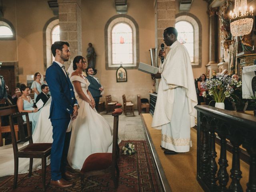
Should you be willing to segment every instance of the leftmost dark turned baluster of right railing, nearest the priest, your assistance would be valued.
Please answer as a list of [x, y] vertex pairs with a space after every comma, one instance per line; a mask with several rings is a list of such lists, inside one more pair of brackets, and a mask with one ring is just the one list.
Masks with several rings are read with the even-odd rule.
[[208, 174], [208, 140], [209, 140], [209, 131], [206, 128], [206, 122], [200, 122], [202, 134], [201, 134], [201, 168], [200, 168], [200, 176], [202, 178], [206, 178]]

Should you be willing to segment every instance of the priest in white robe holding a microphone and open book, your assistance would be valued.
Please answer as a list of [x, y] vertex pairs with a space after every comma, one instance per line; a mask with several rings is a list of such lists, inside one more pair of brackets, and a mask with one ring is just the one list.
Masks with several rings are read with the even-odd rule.
[[152, 127], [162, 130], [161, 147], [164, 154], [188, 152], [192, 146], [190, 128], [195, 126], [197, 104], [194, 76], [188, 50], [177, 40], [178, 32], [169, 27], [164, 30], [164, 43], [170, 46], [167, 56], [160, 50], [161, 78], [152, 120]]

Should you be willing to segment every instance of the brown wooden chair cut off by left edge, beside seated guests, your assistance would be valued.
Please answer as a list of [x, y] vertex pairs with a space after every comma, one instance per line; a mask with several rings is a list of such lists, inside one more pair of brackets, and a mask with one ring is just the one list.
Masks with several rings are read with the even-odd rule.
[[[0, 107], [0, 146], [3, 146], [2, 133], [11, 132], [8, 116], [18, 112], [17, 105]], [[14, 125], [16, 140], [18, 140], [18, 125]]]

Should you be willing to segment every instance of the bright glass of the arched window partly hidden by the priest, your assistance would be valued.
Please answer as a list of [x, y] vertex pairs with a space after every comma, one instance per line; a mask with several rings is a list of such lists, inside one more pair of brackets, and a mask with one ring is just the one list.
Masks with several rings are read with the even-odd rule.
[[187, 21], [179, 21], [175, 24], [178, 31], [178, 41], [187, 48], [190, 61], [194, 62], [194, 28]]

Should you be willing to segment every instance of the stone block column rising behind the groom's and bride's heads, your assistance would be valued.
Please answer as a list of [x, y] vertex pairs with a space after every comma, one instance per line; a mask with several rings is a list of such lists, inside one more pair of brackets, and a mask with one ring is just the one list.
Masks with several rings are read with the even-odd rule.
[[60, 40], [70, 44], [70, 60], [66, 67], [77, 55], [82, 55], [82, 21], [81, 0], [58, 0]]

